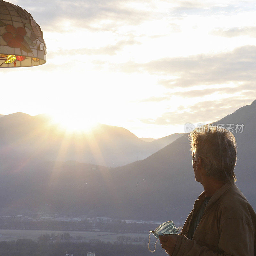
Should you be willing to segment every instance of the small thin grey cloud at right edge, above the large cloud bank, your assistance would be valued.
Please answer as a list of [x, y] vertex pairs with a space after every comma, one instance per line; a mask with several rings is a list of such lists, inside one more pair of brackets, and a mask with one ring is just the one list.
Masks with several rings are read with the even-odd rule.
[[236, 36], [252, 36], [256, 37], [256, 27], [242, 28], [215, 28], [211, 31], [214, 36], [236, 37]]

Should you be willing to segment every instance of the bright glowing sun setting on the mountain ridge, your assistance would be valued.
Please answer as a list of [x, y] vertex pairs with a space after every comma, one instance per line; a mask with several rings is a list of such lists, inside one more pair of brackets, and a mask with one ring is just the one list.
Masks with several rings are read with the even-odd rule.
[[53, 124], [56, 124], [61, 130], [65, 130], [68, 133], [90, 132], [99, 124], [95, 117], [82, 114], [51, 115], [51, 119]]

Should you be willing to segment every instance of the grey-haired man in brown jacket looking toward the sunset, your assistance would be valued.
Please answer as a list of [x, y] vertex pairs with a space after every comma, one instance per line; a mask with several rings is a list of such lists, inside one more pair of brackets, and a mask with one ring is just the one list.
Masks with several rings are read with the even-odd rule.
[[204, 187], [180, 235], [159, 236], [173, 256], [255, 256], [256, 214], [234, 183], [236, 140], [215, 126], [190, 134], [196, 181]]

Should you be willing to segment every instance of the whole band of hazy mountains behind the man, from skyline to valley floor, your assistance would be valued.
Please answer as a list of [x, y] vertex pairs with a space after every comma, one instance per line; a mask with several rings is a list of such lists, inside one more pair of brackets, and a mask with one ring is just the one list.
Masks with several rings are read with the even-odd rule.
[[[256, 100], [213, 123], [244, 124], [242, 132], [233, 133], [236, 183], [254, 209], [255, 112]], [[57, 133], [44, 116], [15, 113], [0, 118], [0, 127], [1, 215], [46, 211], [182, 222], [203, 191], [194, 179], [188, 134], [145, 142], [124, 128], [101, 124], [92, 147], [82, 134]], [[161, 149], [154, 152], [156, 147]], [[93, 159], [94, 152], [102, 158]], [[130, 163], [111, 166], [126, 156]], [[137, 156], [146, 158], [136, 161]]]

